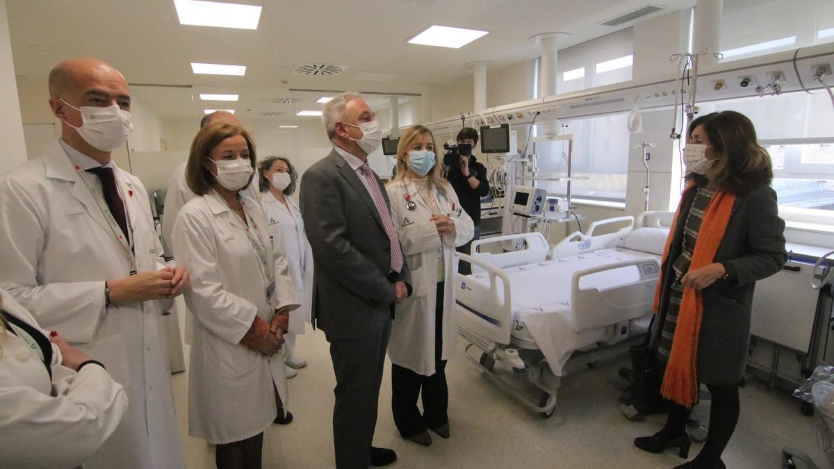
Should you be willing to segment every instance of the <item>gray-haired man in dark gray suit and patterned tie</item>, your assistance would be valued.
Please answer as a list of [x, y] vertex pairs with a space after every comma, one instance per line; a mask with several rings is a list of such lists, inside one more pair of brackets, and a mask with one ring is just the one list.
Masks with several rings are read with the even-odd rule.
[[304, 172], [300, 201], [315, 268], [313, 324], [327, 336], [336, 375], [336, 466], [386, 466], [396, 454], [371, 442], [394, 304], [410, 294], [411, 273], [388, 194], [367, 163], [381, 142], [374, 111], [344, 93], [322, 121], [334, 149]]

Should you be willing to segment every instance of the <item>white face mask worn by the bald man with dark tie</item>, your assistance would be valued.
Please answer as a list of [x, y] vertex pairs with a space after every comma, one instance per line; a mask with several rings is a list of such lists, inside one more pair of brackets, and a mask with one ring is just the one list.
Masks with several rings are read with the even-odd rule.
[[67, 123], [75, 129], [78, 135], [88, 144], [101, 151], [113, 151], [122, 146], [133, 132], [133, 116], [128, 111], [118, 107], [118, 104], [107, 108], [95, 106], [82, 106], [76, 108], [72, 104], [61, 99], [64, 104], [81, 113], [81, 127]]

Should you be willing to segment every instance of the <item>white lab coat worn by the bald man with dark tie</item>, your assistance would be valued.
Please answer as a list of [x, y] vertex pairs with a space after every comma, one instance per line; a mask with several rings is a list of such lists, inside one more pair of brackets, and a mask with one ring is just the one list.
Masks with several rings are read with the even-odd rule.
[[[138, 271], [163, 267], [148, 193], [115, 174]], [[46, 329], [107, 364], [128, 393], [122, 423], [87, 467], [183, 467], [162, 311], [170, 301], [105, 308], [104, 281], [130, 274], [124, 249], [58, 139], [0, 178], [0, 287]]]

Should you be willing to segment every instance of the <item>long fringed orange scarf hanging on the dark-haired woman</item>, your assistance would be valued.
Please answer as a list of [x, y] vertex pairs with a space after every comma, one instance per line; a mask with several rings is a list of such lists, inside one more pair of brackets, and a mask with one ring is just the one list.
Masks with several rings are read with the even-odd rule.
[[[683, 201], [686, 199], [686, 194], [694, 187], [695, 183], [690, 181], [686, 185], [684, 196], [681, 197], [681, 204], [678, 205], [675, 219], [672, 221], [669, 238], [666, 239], [662, 265], [666, 265], [666, 262], [669, 261], [669, 250], [671, 249], [672, 238], [675, 236], [678, 218], [681, 216]], [[710, 265], [715, 260], [735, 203], [736, 196], [728, 192], [717, 192], [712, 198], [701, 222], [695, 250], [692, 251], [690, 272]], [[664, 279], [661, 275], [655, 290], [655, 314], [660, 312], [661, 285], [663, 283]], [[663, 376], [663, 385], [661, 386], [661, 395], [681, 404], [681, 406], [691, 407], [695, 405], [698, 399], [696, 358], [698, 356], [698, 336], [701, 332], [701, 315], [703, 312], [703, 291], [686, 287], [681, 299], [681, 310], [678, 313], [669, 363], [666, 365], [666, 374]]]

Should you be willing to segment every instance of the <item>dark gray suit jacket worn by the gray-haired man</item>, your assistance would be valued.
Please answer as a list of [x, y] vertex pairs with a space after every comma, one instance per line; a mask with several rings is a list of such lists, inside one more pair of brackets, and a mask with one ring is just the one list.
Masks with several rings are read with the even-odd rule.
[[389, 275], [391, 248], [374, 199], [335, 149], [304, 172], [299, 199], [315, 267], [313, 325], [329, 339], [378, 334], [391, 320], [392, 282], [410, 285], [411, 272], [404, 264]]

